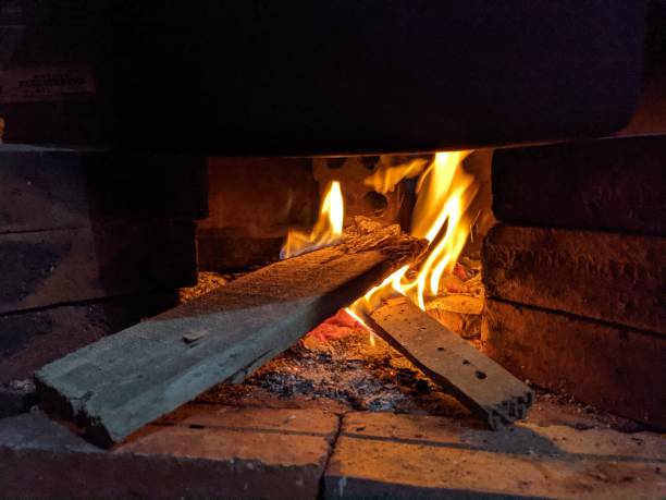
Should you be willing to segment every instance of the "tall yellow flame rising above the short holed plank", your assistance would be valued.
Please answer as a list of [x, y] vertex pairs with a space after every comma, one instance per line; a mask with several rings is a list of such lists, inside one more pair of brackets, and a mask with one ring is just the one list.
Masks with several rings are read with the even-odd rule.
[[439, 293], [442, 276], [453, 269], [469, 235], [466, 210], [478, 191], [473, 175], [461, 167], [469, 153], [437, 153], [425, 168], [417, 184], [411, 234], [430, 242], [428, 255], [420, 268], [414, 270], [416, 276], [405, 266], [351, 304], [349, 309], [355, 317], [365, 317], [396, 294], [405, 295], [424, 310], [425, 300]]

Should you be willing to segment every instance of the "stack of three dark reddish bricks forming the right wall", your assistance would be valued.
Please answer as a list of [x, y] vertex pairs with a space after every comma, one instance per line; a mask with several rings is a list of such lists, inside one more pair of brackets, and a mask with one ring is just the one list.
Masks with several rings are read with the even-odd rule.
[[666, 427], [666, 136], [497, 150], [483, 349]]

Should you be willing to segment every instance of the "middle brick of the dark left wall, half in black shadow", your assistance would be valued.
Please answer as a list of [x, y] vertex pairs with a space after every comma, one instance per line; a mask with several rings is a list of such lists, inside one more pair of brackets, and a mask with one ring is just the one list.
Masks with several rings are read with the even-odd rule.
[[0, 235], [0, 313], [196, 283], [193, 222]]

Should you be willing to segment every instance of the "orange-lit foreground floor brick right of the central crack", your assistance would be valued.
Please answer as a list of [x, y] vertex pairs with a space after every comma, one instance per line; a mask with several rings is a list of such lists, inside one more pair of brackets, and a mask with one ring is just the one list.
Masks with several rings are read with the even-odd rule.
[[349, 413], [324, 476], [328, 499], [659, 498], [658, 435]]

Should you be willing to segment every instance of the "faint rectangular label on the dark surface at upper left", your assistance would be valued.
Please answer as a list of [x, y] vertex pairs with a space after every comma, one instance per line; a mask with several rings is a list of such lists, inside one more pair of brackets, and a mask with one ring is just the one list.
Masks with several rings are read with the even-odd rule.
[[90, 97], [95, 82], [87, 68], [28, 68], [0, 71], [0, 103]]

